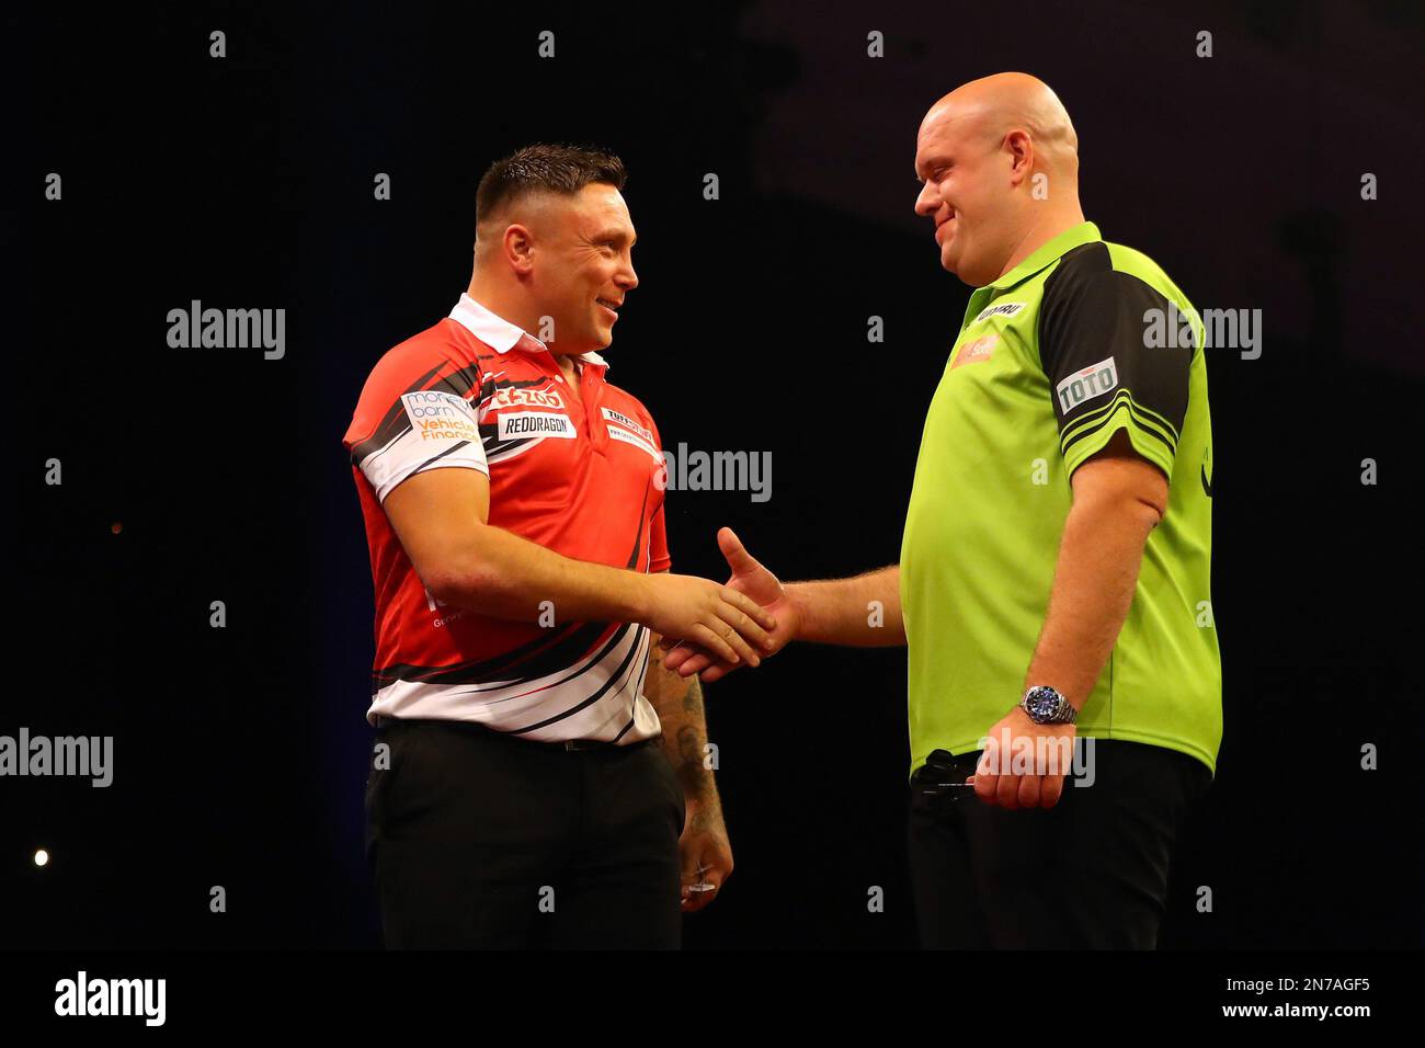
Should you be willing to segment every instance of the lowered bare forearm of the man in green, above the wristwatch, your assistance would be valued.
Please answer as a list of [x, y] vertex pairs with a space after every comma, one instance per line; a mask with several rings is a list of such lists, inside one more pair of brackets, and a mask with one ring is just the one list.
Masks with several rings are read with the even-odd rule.
[[1157, 512], [1129, 499], [1076, 500], [1064, 522], [1049, 612], [1025, 686], [1049, 684], [1082, 709], [1133, 605]]

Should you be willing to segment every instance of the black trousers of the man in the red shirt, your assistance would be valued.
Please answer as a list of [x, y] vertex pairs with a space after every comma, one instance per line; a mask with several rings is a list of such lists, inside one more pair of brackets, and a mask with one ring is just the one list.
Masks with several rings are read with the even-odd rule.
[[683, 787], [658, 740], [593, 750], [382, 719], [366, 857], [386, 947], [681, 945]]

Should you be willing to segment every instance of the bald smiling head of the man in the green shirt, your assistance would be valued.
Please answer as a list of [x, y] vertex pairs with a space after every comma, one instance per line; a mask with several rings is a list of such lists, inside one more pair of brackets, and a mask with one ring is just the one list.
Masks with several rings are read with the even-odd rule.
[[1059, 96], [1027, 73], [939, 98], [921, 121], [915, 174], [915, 210], [935, 221], [940, 264], [973, 287], [1017, 264], [1045, 231], [1083, 221], [1079, 135]]

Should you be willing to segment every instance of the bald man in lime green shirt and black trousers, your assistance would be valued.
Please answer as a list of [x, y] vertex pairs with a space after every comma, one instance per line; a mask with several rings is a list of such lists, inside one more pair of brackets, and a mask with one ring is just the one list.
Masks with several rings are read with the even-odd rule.
[[1039, 80], [939, 100], [915, 170], [940, 264], [976, 291], [899, 563], [784, 587], [718, 540], [777, 642], [908, 646], [925, 945], [1151, 948], [1221, 739], [1201, 321], [1084, 221], [1077, 135]]

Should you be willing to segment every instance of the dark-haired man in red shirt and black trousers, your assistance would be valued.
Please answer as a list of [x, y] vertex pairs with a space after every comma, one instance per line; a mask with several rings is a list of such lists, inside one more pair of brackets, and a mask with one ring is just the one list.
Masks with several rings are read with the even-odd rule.
[[623, 181], [569, 147], [493, 164], [469, 289], [382, 356], [343, 439], [389, 947], [677, 947], [680, 900], [732, 868], [701, 693], [648, 652], [757, 664], [775, 620], [668, 573], [658, 429], [597, 352], [638, 285]]

